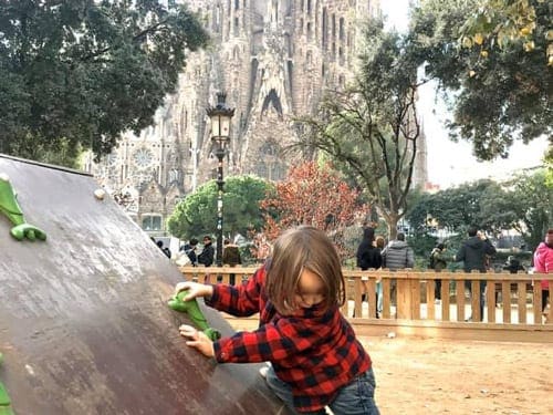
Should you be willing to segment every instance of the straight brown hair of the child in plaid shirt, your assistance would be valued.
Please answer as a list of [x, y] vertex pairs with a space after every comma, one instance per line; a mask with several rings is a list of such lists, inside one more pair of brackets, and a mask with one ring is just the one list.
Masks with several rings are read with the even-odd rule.
[[322, 230], [301, 226], [276, 239], [268, 267], [267, 295], [280, 313], [295, 310], [294, 297], [305, 269], [323, 281], [324, 311], [345, 303], [345, 280], [336, 248]]

